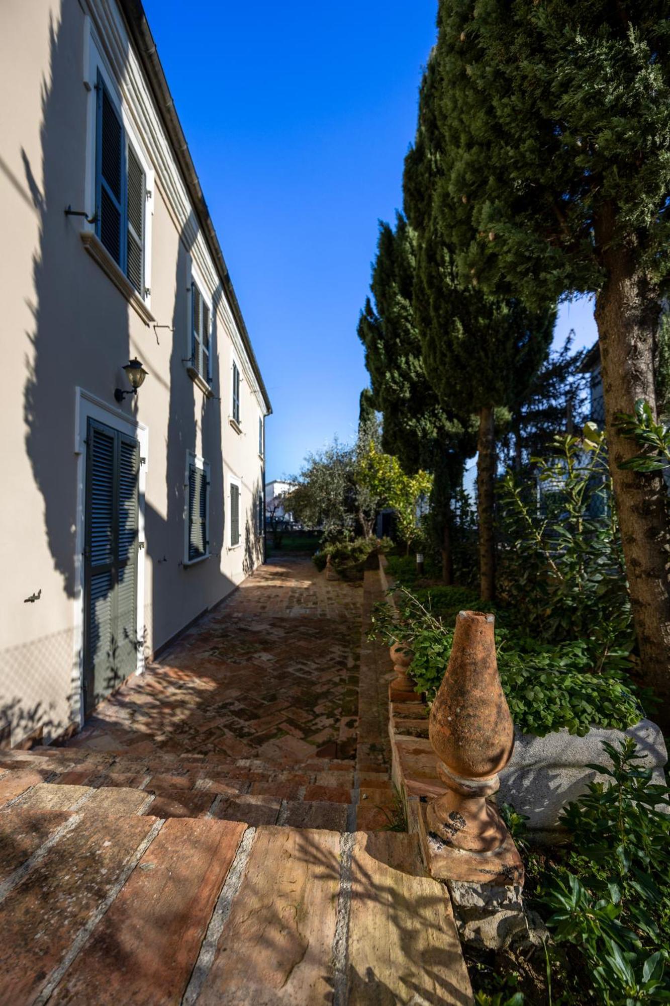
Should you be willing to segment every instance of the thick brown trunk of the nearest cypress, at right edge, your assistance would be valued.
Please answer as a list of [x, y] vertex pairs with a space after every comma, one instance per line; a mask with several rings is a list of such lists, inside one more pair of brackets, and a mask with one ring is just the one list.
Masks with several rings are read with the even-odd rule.
[[655, 718], [670, 728], [670, 590], [667, 489], [657, 474], [622, 471], [622, 461], [639, 453], [621, 437], [617, 412], [632, 412], [638, 398], [656, 414], [654, 348], [659, 325], [657, 292], [636, 268], [633, 254], [611, 247], [614, 210], [596, 222], [597, 243], [607, 281], [596, 301], [601, 347], [610, 470], [619, 514], [626, 572], [645, 684], [660, 699]]

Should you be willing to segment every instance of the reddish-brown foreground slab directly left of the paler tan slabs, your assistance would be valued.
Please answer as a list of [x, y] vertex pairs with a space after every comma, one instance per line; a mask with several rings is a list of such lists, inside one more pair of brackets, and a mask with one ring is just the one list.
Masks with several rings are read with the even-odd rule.
[[55, 988], [51, 1004], [178, 1006], [244, 825], [167, 821]]

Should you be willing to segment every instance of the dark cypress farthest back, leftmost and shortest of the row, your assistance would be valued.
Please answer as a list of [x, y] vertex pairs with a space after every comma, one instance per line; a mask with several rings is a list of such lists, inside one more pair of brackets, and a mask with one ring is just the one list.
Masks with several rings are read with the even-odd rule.
[[[414, 236], [402, 214], [395, 227], [380, 223], [370, 291], [358, 322], [370, 374], [369, 407], [383, 415], [382, 450], [397, 457], [412, 475], [420, 469], [439, 475], [432, 490], [433, 526], [443, 558], [443, 578], [454, 576], [451, 495], [458, 488], [465, 460], [474, 453], [472, 435], [441, 405], [424, 370], [414, 324], [412, 296]], [[365, 392], [363, 392], [365, 394]], [[362, 408], [361, 397], [361, 408]]]

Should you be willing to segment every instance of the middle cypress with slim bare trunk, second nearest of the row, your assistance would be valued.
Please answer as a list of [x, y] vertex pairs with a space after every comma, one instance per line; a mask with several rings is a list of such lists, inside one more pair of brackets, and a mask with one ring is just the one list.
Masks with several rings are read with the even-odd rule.
[[433, 53], [403, 179], [405, 207], [417, 235], [414, 318], [425, 371], [441, 404], [460, 415], [477, 415], [480, 592], [483, 600], [492, 601], [496, 413], [523, 400], [548, 353], [555, 311], [544, 307], [530, 312], [518, 298], [487, 294], [462, 282], [442, 199], [446, 152], [441, 97], [441, 70]]

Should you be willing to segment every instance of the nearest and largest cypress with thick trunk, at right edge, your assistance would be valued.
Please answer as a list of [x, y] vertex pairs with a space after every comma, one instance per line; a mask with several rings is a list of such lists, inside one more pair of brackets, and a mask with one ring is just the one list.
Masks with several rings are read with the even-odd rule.
[[[440, 200], [461, 282], [529, 304], [595, 293], [610, 465], [646, 681], [670, 709], [666, 493], [622, 470], [616, 416], [657, 414], [668, 288], [667, 0], [442, 0]], [[668, 712], [665, 723], [668, 722]]]

